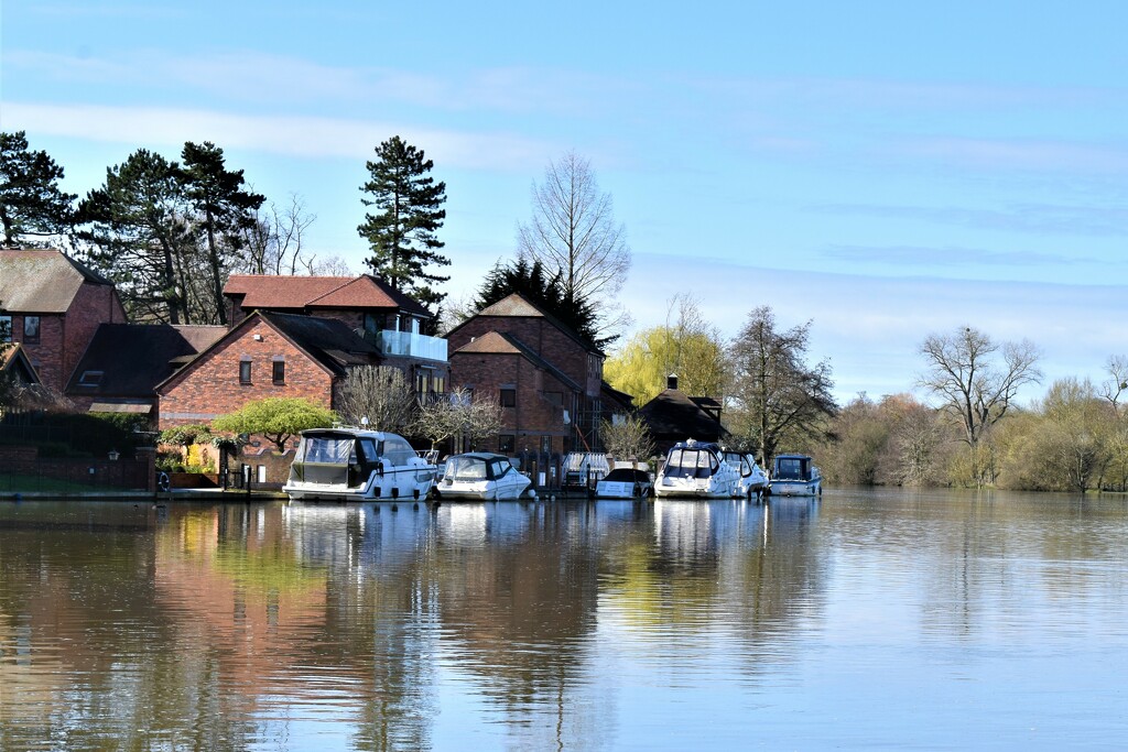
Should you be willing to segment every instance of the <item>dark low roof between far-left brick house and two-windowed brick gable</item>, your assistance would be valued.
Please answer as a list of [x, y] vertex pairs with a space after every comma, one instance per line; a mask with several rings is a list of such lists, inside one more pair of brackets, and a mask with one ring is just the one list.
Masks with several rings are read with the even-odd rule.
[[[227, 333], [221, 326], [103, 324], [94, 333], [65, 393], [153, 397], [177, 365], [210, 347]], [[99, 373], [83, 380], [83, 374]]]

